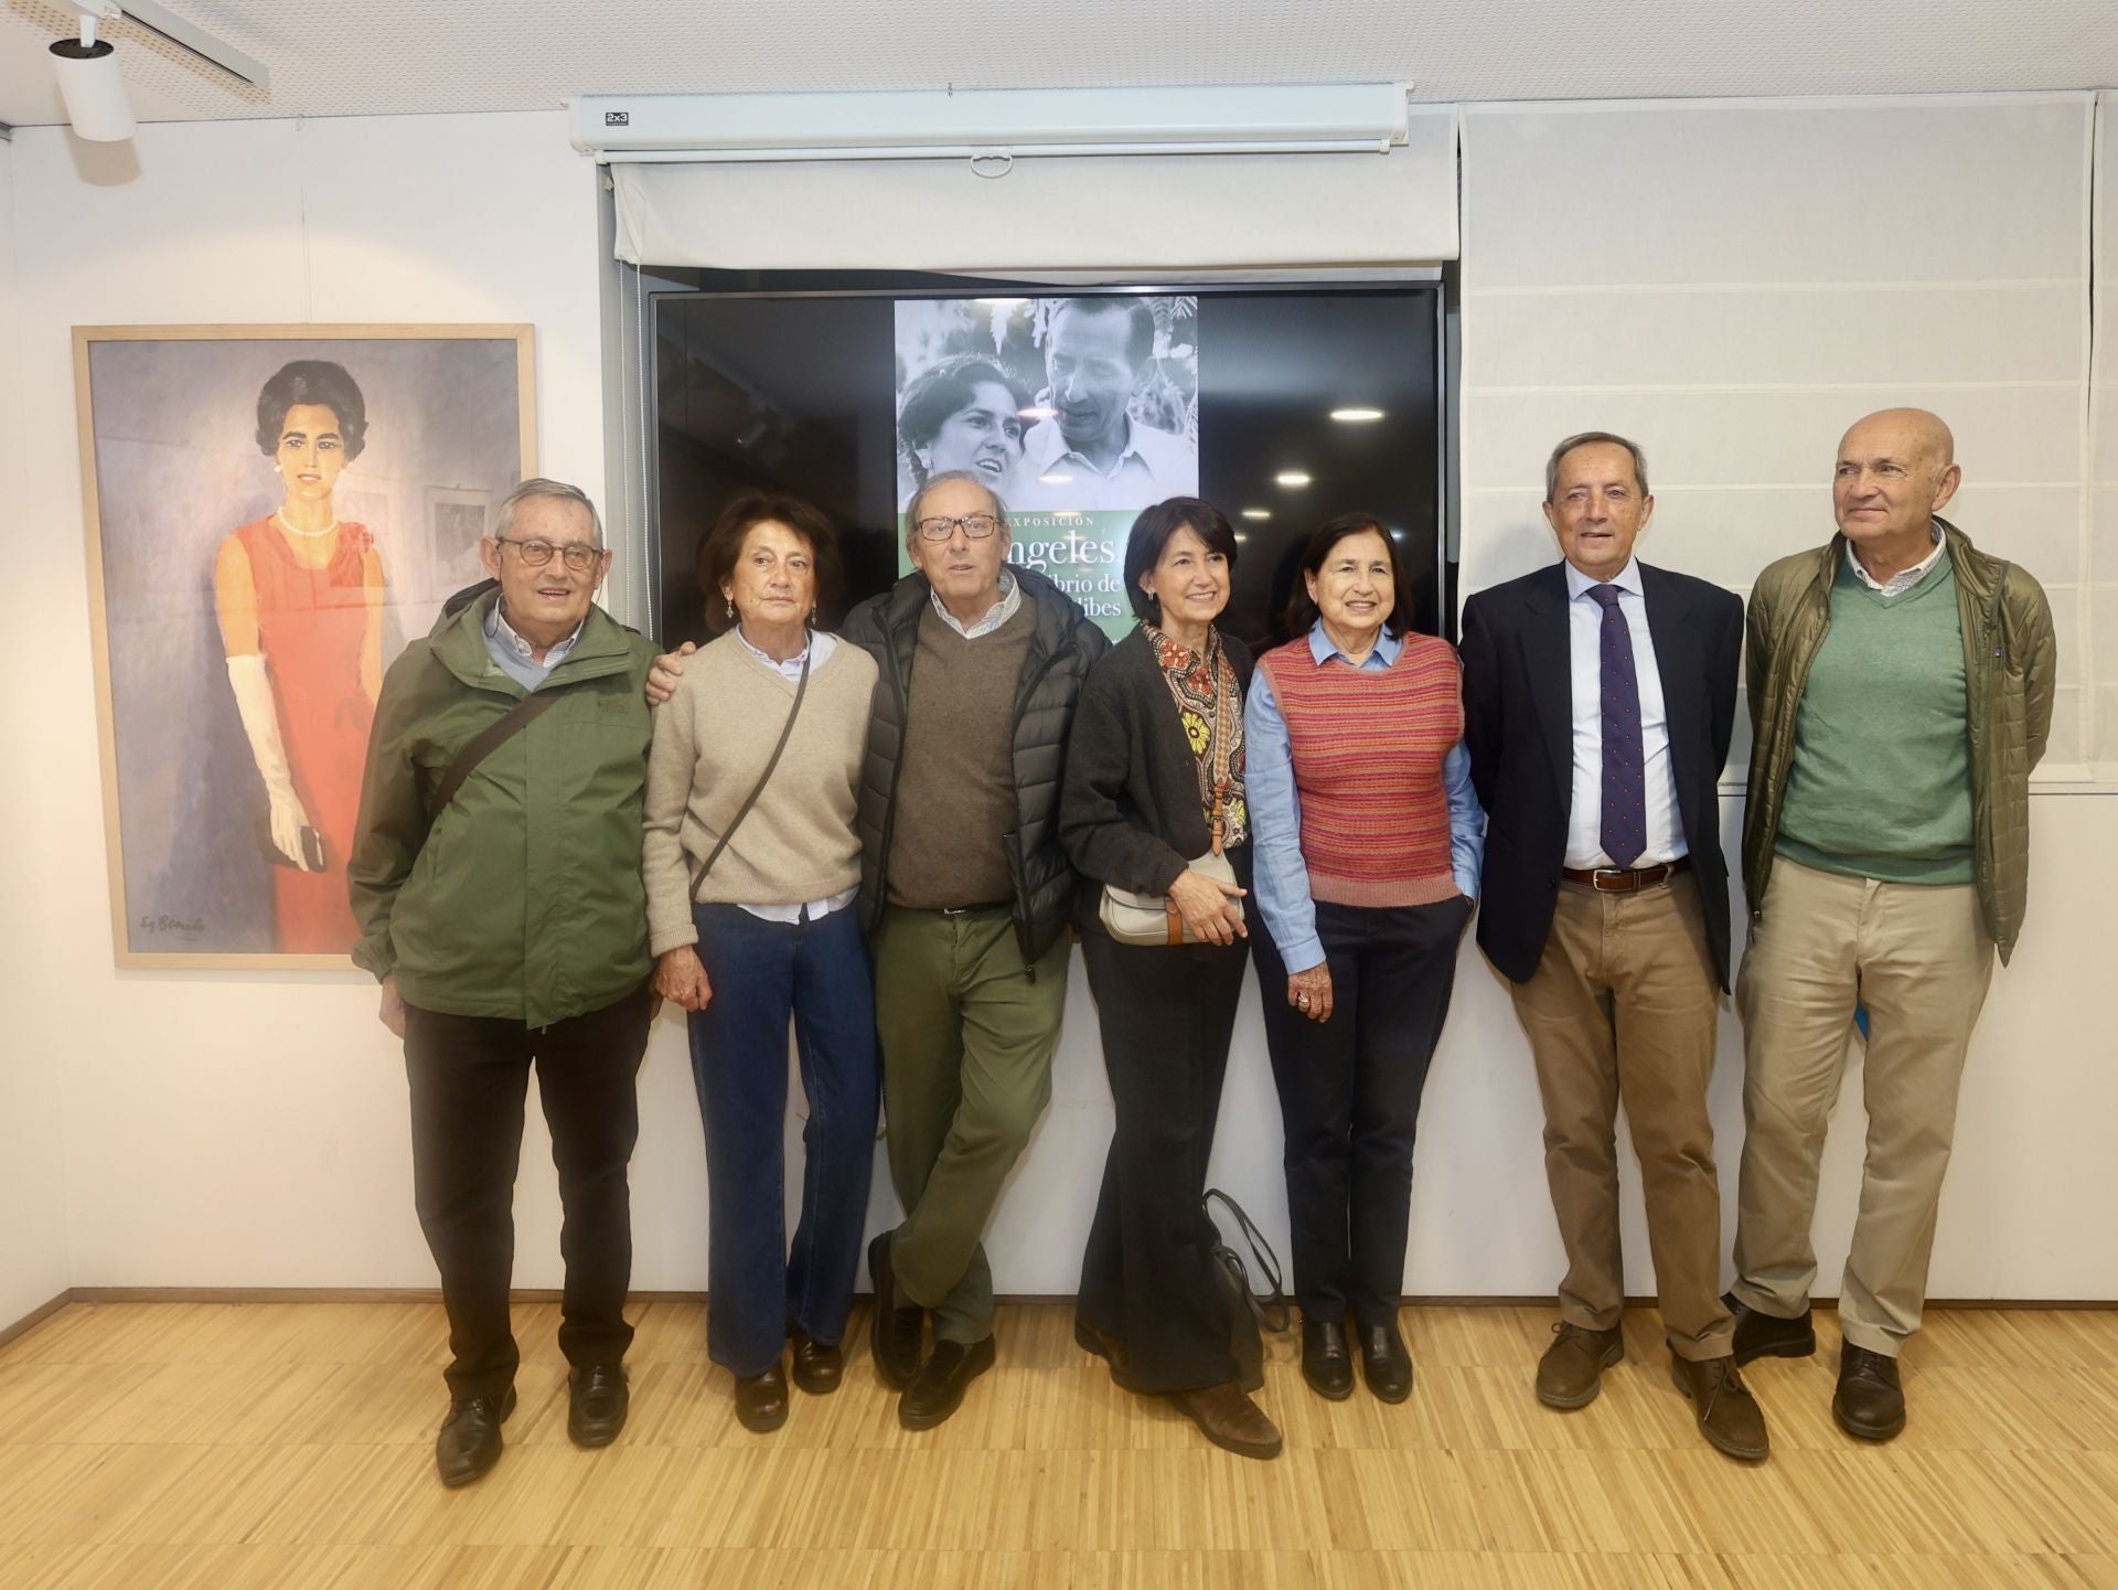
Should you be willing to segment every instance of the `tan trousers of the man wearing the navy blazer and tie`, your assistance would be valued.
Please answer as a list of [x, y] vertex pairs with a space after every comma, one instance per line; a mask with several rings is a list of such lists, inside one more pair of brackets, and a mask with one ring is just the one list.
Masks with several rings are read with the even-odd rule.
[[1625, 1308], [1618, 1101], [1648, 1196], [1663, 1330], [1677, 1357], [1730, 1351], [1720, 1302], [1713, 1023], [1720, 987], [1699, 887], [1677, 874], [1633, 893], [1561, 883], [1544, 959], [1512, 987], [1544, 1095], [1544, 1175], [1567, 1249], [1559, 1317], [1610, 1330]]

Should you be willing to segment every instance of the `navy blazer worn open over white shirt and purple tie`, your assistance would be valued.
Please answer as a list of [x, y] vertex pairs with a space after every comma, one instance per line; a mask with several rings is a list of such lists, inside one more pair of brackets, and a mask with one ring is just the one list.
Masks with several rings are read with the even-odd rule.
[[[1677, 821], [1707, 915], [1713, 972], [1728, 987], [1728, 860], [1713, 785], [1735, 728], [1743, 599], [1718, 584], [1646, 563], [1654, 665], [1669, 713]], [[1544, 955], [1574, 805], [1574, 663], [1565, 563], [1525, 574], [1464, 603], [1464, 739], [1485, 805], [1478, 948], [1527, 982]]]

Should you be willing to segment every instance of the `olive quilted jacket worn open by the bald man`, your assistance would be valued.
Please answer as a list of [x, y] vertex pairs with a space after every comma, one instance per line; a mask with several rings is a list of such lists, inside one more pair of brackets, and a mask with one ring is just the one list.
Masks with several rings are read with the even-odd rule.
[[[1972, 760], [1972, 845], [1978, 910], [2002, 965], [2023, 932], [2029, 904], [2029, 773], [2044, 758], [2052, 728], [2052, 610], [2044, 589], [2021, 567], [1972, 546], [1970, 536], [1936, 517], [1957, 576], [1957, 625], [1963, 631], [1963, 733]], [[1832, 582], [1845, 567], [1847, 540], [1771, 563], [1749, 593], [1743, 675], [1749, 684], [1749, 807], [1743, 813], [1743, 887], [1749, 915], [1764, 906], [1779, 841], [1779, 802], [1794, 762], [1794, 720], [1832, 627]]]

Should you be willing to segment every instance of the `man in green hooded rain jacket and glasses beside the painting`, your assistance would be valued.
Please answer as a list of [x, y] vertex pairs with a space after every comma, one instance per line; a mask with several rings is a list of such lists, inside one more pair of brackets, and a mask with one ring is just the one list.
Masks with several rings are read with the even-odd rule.
[[405, 1040], [413, 1192], [453, 1351], [434, 1444], [451, 1486], [500, 1461], [515, 1408], [532, 1065], [566, 1207], [568, 1433], [606, 1446], [625, 1427], [625, 1167], [652, 1016], [640, 802], [654, 648], [593, 601], [610, 553], [578, 487], [523, 481], [481, 555], [493, 580], [451, 599], [383, 680], [347, 870], [354, 959]]

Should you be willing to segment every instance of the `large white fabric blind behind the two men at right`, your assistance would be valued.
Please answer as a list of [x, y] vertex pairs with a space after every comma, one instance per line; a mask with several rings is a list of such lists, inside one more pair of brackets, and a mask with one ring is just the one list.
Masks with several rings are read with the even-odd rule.
[[[2050, 593], [2059, 709], [2040, 779], [2080, 779], [2099, 688], [2082, 644], [2090, 104], [1466, 110], [1466, 595], [1557, 555], [1544, 457], [1572, 432], [1646, 449], [1644, 559], [1747, 591], [1830, 538], [1832, 449], [1853, 419], [1934, 409], [1963, 464], [1949, 517]], [[2118, 440], [2099, 474], [2118, 476]], [[2118, 525], [2118, 491], [2099, 500]], [[1737, 771], [1745, 735], [1739, 713]]]

